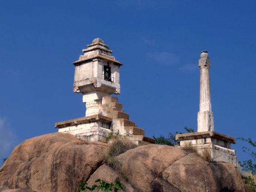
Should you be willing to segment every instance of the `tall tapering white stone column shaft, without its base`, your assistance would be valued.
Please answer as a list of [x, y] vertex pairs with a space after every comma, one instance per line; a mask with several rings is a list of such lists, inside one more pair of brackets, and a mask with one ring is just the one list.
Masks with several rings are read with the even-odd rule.
[[211, 62], [207, 51], [202, 51], [199, 59], [200, 67], [200, 105], [198, 112], [198, 132], [214, 131], [213, 113], [210, 96], [209, 67]]

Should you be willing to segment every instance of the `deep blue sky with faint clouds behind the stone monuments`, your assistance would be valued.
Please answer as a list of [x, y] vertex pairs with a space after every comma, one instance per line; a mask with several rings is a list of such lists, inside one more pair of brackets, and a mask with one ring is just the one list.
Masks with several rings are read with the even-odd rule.
[[[197, 129], [208, 50], [215, 131], [256, 140], [255, 9], [254, 0], [2, 0], [0, 158], [85, 115], [71, 63], [94, 38], [124, 64], [117, 97], [146, 136]], [[239, 160], [243, 145], [232, 145]]]

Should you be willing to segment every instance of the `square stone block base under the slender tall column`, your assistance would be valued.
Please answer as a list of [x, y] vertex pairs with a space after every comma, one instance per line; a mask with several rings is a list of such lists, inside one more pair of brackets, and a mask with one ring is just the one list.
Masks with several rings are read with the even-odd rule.
[[211, 162], [230, 163], [238, 167], [236, 150], [231, 149], [231, 143], [236, 139], [215, 131], [204, 131], [188, 134], [177, 134], [176, 140], [180, 140], [180, 147], [187, 144], [196, 148], [199, 154], [209, 152]]

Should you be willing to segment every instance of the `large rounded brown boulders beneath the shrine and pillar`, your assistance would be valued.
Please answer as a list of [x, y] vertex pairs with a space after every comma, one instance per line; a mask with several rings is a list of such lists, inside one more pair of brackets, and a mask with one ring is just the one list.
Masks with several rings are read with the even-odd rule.
[[236, 168], [209, 163], [167, 145], [142, 145], [119, 154], [122, 172], [105, 160], [107, 143], [87, 143], [71, 134], [34, 137], [18, 145], [0, 168], [0, 191], [77, 191], [82, 181], [121, 181], [126, 192], [245, 191]]

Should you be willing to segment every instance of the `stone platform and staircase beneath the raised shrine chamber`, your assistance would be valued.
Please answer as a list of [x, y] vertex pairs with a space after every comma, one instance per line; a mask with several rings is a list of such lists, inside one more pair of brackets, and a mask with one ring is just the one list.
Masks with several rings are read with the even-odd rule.
[[136, 144], [155, 143], [154, 139], [144, 136], [143, 129], [129, 120], [129, 114], [122, 110], [118, 98], [104, 96], [98, 108], [99, 114], [58, 122], [55, 123], [55, 128], [58, 128], [59, 132], [70, 133], [89, 142], [104, 140], [112, 132], [127, 135]]

